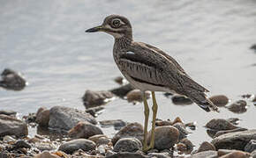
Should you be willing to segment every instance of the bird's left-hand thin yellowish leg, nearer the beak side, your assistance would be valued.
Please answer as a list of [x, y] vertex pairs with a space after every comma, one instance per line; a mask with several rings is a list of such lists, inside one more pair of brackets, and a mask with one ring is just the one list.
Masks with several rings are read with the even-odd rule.
[[147, 151], [148, 147], [147, 147], [147, 124], [148, 124], [148, 115], [149, 115], [149, 108], [148, 108], [148, 104], [147, 104], [147, 97], [145, 95], [145, 91], [142, 92], [143, 93], [143, 101], [144, 101], [144, 116], [145, 116], [145, 120], [144, 120], [144, 140], [143, 140], [143, 151]]

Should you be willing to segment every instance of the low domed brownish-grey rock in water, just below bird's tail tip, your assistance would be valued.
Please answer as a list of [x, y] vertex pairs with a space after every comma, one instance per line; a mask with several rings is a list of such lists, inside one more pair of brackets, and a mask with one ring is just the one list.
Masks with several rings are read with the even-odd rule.
[[212, 130], [216, 130], [216, 131], [232, 130], [232, 129], [236, 129], [237, 128], [237, 126], [234, 126], [229, 121], [227, 121], [226, 119], [222, 119], [222, 118], [211, 119], [207, 123], [206, 127], [210, 128]]

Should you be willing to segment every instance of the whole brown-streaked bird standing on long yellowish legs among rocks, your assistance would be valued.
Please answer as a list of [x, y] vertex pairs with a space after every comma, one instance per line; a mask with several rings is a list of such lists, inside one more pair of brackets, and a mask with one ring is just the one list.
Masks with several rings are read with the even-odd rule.
[[[206, 88], [192, 80], [184, 69], [169, 54], [147, 43], [132, 39], [132, 25], [128, 18], [120, 15], [109, 15], [102, 25], [87, 29], [86, 32], [106, 32], [115, 39], [113, 57], [117, 67], [129, 83], [141, 90], [144, 103], [143, 151], [154, 148], [154, 129], [158, 104], [155, 91], [171, 92], [190, 98], [204, 111], [219, 111], [206, 93]], [[149, 146], [147, 144], [147, 125], [149, 107], [146, 91], [152, 94], [152, 128]]]

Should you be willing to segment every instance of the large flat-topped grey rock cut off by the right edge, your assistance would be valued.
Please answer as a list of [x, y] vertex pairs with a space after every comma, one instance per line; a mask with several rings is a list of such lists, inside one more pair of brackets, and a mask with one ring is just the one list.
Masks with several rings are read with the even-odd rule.
[[247, 130], [236, 133], [226, 133], [216, 137], [212, 143], [217, 149], [244, 150], [250, 140], [256, 140], [256, 130]]

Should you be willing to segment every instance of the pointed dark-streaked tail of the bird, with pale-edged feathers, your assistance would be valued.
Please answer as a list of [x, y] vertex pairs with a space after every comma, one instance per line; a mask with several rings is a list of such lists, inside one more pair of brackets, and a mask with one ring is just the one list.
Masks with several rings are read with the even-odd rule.
[[217, 111], [219, 112], [218, 107], [211, 102], [205, 93], [190, 93], [187, 95], [195, 104], [198, 104], [200, 108], [202, 108], [204, 111]]

